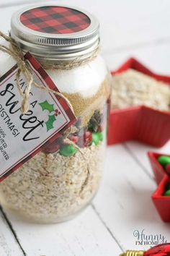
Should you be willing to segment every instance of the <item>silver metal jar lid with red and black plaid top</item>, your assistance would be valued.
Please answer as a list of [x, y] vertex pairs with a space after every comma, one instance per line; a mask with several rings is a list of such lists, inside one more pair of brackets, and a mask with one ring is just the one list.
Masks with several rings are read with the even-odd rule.
[[40, 5], [12, 15], [10, 34], [37, 59], [73, 59], [99, 46], [99, 22], [84, 10]]

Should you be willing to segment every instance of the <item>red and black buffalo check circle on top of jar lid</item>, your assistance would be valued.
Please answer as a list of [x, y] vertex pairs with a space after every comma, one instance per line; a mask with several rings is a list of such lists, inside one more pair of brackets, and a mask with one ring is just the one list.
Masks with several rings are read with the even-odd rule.
[[90, 25], [86, 14], [67, 7], [38, 7], [20, 16], [22, 24], [31, 30], [50, 34], [76, 33]]

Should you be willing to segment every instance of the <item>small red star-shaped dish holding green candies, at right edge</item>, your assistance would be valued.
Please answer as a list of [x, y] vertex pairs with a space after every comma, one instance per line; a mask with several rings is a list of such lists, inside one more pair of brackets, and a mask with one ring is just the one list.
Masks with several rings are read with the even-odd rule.
[[151, 151], [148, 152], [153, 174], [155, 176], [156, 183], [158, 184], [156, 191], [153, 192], [152, 200], [162, 221], [170, 222], [170, 196], [164, 196], [166, 186], [170, 183], [170, 181], [169, 176], [164, 171], [163, 166], [161, 166], [157, 160], [161, 155], [167, 154], [155, 153]]

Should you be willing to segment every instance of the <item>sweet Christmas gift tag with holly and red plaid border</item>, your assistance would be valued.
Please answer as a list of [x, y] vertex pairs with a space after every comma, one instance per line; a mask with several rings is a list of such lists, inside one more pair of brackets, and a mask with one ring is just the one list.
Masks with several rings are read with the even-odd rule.
[[[58, 91], [57, 85], [30, 54], [25, 55], [38, 85]], [[76, 121], [68, 103], [61, 96], [32, 85], [26, 114], [20, 111], [22, 97], [16, 83], [17, 65], [0, 78], [0, 181], [53, 142]], [[27, 80], [21, 74], [22, 91]], [[68, 85], [69, 86], [69, 85]]]

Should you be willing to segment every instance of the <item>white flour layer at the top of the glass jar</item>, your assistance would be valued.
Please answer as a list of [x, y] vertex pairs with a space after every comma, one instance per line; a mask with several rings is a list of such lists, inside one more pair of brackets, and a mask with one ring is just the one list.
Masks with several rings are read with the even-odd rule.
[[[0, 40], [8, 46], [4, 39]], [[16, 62], [4, 52], [0, 53], [0, 76], [11, 69]], [[81, 67], [70, 70], [47, 70], [55, 85], [62, 93], [79, 93], [84, 98], [91, 97], [103, 82], [107, 75], [107, 68], [101, 56], [97, 56], [93, 61]]]

